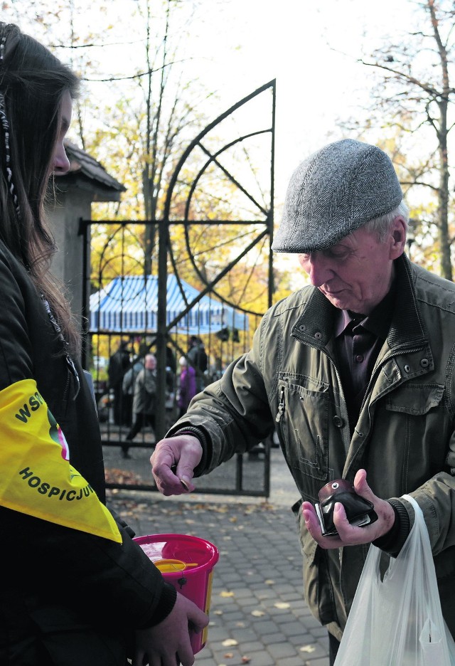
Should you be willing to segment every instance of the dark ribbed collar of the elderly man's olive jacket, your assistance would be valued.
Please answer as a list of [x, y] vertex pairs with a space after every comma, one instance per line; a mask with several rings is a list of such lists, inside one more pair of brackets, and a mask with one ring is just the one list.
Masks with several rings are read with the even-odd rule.
[[[395, 260], [396, 302], [387, 334], [390, 349], [414, 349], [428, 344], [427, 329], [417, 305], [412, 264], [405, 254]], [[316, 287], [309, 287], [304, 310], [291, 334], [313, 347], [326, 347], [334, 334], [336, 308]]]

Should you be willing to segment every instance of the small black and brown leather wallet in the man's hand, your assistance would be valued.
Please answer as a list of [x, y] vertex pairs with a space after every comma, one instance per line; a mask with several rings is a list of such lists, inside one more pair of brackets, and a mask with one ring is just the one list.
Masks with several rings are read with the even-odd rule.
[[323, 536], [336, 536], [338, 534], [333, 524], [335, 502], [343, 504], [348, 521], [355, 527], [365, 527], [365, 525], [370, 525], [378, 520], [374, 504], [368, 502], [368, 499], [360, 497], [350, 481], [345, 479], [331, 481], [321, 488], [319, 503], [315, 504]]

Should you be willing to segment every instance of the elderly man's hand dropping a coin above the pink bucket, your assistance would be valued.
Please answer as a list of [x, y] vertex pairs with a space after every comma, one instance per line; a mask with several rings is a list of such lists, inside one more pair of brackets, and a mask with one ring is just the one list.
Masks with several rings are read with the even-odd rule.
[[195, 489], [194, 470], [202, 458], [202, 446], [193, 435], [161, 440], [151, 455], [151, 473], [163, 495], [183, 495]]

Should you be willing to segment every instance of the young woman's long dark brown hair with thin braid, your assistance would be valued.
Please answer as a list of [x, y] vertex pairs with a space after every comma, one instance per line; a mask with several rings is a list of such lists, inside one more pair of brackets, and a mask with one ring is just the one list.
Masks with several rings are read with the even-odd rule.
[[72, 98], [77, 96], [79, 80], [17, 26], [0, 22], [0, 40], [0, 94], [9, 126], [10, 153], [7, 165], [5, 127], [0, 127], [0, 237], [48, 300], [63, 337], [76, 351], [79, 334], [73, 315], [61, 285], [49, 271], [56, 247], [45, 223], [44, 203], [60, 130], [62, 98], [67, 92]]

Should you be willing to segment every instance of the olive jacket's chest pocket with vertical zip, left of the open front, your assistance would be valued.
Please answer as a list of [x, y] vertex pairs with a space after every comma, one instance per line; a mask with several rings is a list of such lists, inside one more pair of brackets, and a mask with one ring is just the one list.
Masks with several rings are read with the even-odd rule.
[[287, 444], [287, 462], [291, 471], [319, 482], [311, 492], [317, 495], [328, 475], [328, 386], [320, 384], [320, 390], [314, 390], [283, 377], [278, 391], [276, 421]]

